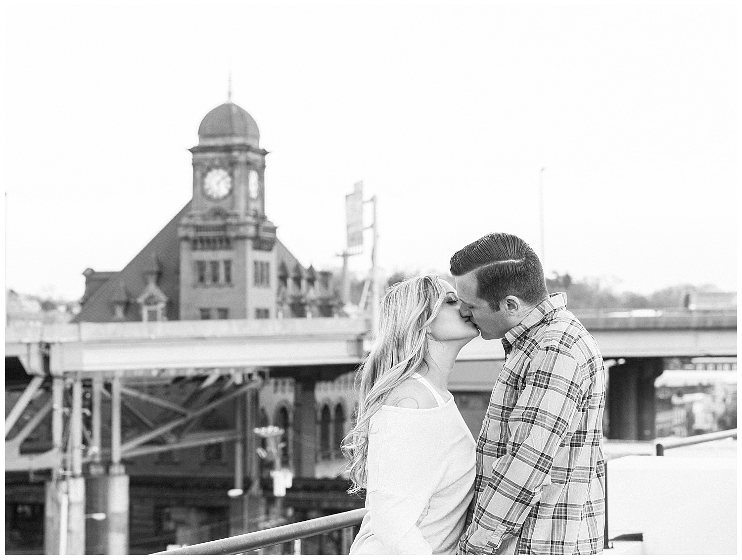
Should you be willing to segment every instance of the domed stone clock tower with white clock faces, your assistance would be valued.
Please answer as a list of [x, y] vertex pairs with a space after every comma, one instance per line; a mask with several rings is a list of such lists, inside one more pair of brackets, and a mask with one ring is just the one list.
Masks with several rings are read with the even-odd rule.
[[255, 119], [228, 101], [203, 118], [198, 139], [191, 208], [178, 227], [180, 319], [273, 318], [276, 228]]

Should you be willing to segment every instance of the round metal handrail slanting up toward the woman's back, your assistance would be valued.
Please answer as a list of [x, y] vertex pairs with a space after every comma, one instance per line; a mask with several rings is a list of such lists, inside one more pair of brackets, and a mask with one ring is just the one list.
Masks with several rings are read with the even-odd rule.
[[271, 527], [262, 531], [254, 531], [244, 535], [220, 538], [217, 541], [191, 544], [188, 547], [176, 548], [174, 550], [163, 550], [154, 554], [240, 554], [270, 547], [274, 544], [296, 541], [300, 538], [309, 538], [328, 531], [355, 527], [363, 521], [368, 510], [361, 507], [359, 510], [351, 510], [343, 513], [326, 515], [316, 519], [299, 521], [280, 527]]

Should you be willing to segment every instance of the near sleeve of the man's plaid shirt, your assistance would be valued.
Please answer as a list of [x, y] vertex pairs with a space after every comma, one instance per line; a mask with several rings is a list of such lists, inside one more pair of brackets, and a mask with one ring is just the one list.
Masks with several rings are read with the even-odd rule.
[[585, 389], [577, 360], [558, 347], [539, 349], [525, 375], [525, 388], [508, 418], [508, 452], [493, 464], [459, 553], [493, 554], [516, 535], [541, 490], [559, 444], [568, 433]]

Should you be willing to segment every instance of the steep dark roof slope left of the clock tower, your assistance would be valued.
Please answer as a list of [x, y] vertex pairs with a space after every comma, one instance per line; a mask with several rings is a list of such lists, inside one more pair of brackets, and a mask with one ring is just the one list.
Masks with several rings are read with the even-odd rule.
[[[139, 251], [128, 265], [114, 273], [106, 282], [85, 300], [82, 309], [73, 319], [75, 322], [90, 321], [102, 323], [114, 320], [114, 299], [120, 297], [122, 286], [131, 298], [126, 309], [126, 320], [141, 320], [137, 297], [145, 289], [145, 272], [154, 266], [160, 269], [158, 283], [162, 293], [168, 298], [165, 314], [170, 320], [180, 317], [180, 240], [178, 225], [191, 208], [188, 202], [175, 217]], [[153, 254], [157, 260], [153, 263]], [[113, 298], [113, 299], [112, 299]]]

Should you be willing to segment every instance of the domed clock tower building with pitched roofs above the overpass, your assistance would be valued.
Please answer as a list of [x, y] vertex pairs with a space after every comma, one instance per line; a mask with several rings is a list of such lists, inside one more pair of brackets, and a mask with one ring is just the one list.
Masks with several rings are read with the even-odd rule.
[[191, 148], [193, 197], [120, 271], [87, 269], [76, 321], [332, 317], [328, 271], [299, 263], [265, 213], [268, 152], [255, 119], [226, 102]]

